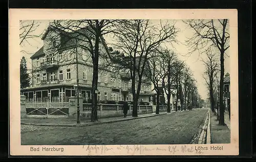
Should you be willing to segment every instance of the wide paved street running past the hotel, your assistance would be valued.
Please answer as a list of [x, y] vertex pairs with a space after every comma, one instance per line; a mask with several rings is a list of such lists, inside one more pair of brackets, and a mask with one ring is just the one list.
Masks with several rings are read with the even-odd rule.
[[189, 144], [208, 109], [87, 127], [21, 125], [22, 145]]

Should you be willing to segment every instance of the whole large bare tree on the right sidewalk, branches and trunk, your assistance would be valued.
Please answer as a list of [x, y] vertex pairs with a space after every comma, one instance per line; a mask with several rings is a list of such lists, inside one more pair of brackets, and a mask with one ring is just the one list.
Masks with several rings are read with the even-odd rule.
[[194, 31], [193, 36], [188, 38], [186, 45], [190, 47], [189, 53], [198, 50], [204, 53], [208, 49], [215, 48], [220, 52], [220, 120], [219, 125], [224, 125], [224, 54], [229, 48], [228, 19], [193, 19], [185, 20], [185, 24]]

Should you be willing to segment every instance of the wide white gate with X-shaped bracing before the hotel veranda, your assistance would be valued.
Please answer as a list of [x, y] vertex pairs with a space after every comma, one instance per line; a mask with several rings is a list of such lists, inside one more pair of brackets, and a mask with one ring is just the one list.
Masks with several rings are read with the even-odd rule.
[[68, 102], [27, 102], [27, 115], [34, 116], [67, 116], [69, 114]]

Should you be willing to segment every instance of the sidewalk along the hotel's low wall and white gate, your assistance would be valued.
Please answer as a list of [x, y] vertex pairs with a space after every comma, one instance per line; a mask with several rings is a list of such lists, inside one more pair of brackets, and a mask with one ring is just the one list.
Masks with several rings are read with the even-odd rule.
[[[171, 111], [170, 113], [174, 113], [175, 111]], [[126, 118], [123, 117], [112, 117], [112, 118], [99, 118], [98, 122], [92, 123], [91, 119], [81, 120], [80, 124], [76, 124], [76, 119], [70, 118], [48, 118], [48, 119], [39, 119], [39, 118], [27, 118], [21, 119], [20, 124], [24, 125], [38, 125], [38, 126], [66, 126], [66, 127], [75, 127], [75, 126], [90, 126], [90, 125], [99, 125], [104, 123], [114, 123], [120, 121], [128, 121], [140, 118], [148, 118], [148, 117], [155, 117], [158, 115], [164, 115], [167, 112], [160, 112], [159, 114], [154, 113], [147, 113], [147, 114], [139, 114], [138, 117], [127, 116]]]

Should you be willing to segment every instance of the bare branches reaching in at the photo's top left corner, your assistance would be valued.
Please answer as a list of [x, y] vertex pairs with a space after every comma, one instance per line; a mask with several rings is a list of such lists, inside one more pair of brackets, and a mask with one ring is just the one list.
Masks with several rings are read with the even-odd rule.
[[39, 27], [39, 22], [35, 20], [20, 20], [19, 21], [19, 45], [24, 41], [29, 43], [28, 39], [38, 38], [40, 35], [34, 34], [34, 31]]

